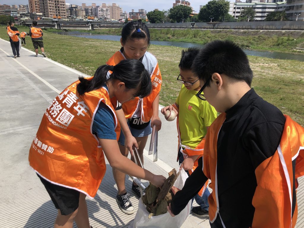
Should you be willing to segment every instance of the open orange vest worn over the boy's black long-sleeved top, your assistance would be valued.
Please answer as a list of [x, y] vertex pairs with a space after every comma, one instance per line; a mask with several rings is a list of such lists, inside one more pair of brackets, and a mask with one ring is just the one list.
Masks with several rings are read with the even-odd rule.
[[[304, 128], [285, 116], [286, 122], [278, 149], [255, 170], [257, 188], [252, 205], [255, 208], [252, 228], [293, 228], [297, 219], [297, 204], [292, 216], [293, 170], [296, 159], [295, 179], [304, 175]], [[203, 172], [211, 179], [212, 193], [208, 198], [209, 219], [213, 223], [219, 213], [217, 196], [217, 137], [226, 119], [220, 114], [211, 124], [206, 136], [203, 157]], [[295, 180], [296, 188], [298, 187]], [[283, 194], [282, 194], [283, 193]], [[240, 208], [241, 209], [241, 208]], [[223, 221], [224, 223], [225, 221]]]

